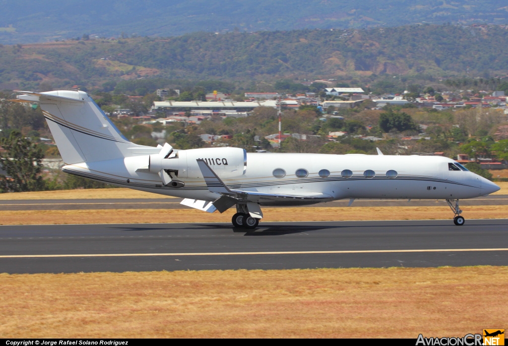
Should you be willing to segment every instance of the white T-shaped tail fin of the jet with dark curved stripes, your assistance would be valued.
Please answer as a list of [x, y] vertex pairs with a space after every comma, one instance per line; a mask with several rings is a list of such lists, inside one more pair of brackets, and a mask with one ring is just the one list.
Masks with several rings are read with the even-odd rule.
[[20, 91], [19, 101], [38, 102], [63, 162], [73, 164], [131, 156], [126, 139], [84, 91]]

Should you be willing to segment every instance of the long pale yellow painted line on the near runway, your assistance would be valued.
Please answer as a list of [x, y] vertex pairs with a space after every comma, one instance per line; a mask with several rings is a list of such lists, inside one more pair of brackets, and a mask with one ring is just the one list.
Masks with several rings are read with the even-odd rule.
[[312, 254], [367, 254], [402, 252], [472, 252], [508, 251], [506, 249], [425, 249], [425, 250], [344, 250], [344, 251], [269, 251], [269, 252], [196, 252], [161, 254], [63, 254], [63, 255], [0, 255], [0, 258], [51, 258], [51, 257], [140, 257], [140, 256], [242, 256], [242, 255], [312, 255]]

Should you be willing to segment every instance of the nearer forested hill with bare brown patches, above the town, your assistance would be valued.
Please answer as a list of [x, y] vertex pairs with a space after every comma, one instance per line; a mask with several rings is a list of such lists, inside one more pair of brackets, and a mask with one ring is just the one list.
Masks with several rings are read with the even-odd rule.
[[[0, 89], [100, 86], [139, 78], [274, 80], [382, 75], [504, 76], [508, 29], [412, 25], [359, 30], [192, 33], [0, 47]], [[347, 77], [347, 78], [346, 78]]]

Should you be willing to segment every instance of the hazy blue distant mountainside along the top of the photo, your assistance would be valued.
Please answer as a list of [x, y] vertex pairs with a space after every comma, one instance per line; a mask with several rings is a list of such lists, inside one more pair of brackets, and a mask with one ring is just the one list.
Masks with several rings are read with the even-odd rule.
[[0, 0], [0, 43], [189, 32], [508, 23], [504, 0]]

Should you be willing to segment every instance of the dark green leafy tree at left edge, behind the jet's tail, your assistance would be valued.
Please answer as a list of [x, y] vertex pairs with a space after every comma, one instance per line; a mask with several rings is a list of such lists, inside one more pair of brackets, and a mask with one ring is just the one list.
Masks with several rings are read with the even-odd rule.
[[42, 150], [16, 130], [0, 139], [0, 146], [5, 150], [0, 153], [0, 165], [8, 176], [0, 175], [0, 192], [44, 190], [45, 183], [40, 176]]

